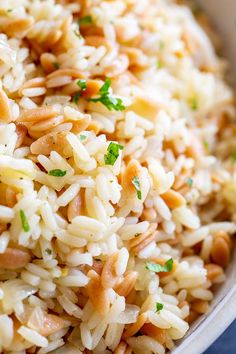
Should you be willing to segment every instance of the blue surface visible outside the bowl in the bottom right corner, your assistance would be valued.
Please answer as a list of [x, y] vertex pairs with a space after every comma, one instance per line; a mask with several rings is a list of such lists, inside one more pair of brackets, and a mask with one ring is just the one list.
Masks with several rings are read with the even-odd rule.
[[236, 354], [236, 321], [204, 354]]

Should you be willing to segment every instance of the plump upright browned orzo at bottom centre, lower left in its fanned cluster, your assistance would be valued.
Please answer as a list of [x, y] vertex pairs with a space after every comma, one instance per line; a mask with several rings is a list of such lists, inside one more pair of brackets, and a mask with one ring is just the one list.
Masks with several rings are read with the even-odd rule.
[[108, 289], [104, 289], [101, 284], [101, 277], [95, 271], [89, 271], [87, 276], [90, 278], [86, 290], [95, 311], [106, 314], [110, 307]]

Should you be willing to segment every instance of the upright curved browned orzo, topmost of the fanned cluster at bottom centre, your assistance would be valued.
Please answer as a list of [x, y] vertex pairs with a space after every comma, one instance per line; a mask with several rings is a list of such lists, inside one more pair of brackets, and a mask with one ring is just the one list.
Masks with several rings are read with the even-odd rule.
[[105, 289], [113, 288], [120, 280], [116, 274], [115, 264], [117, 262], [118, 253], [108, 256], [101, 274], [101, 284]]

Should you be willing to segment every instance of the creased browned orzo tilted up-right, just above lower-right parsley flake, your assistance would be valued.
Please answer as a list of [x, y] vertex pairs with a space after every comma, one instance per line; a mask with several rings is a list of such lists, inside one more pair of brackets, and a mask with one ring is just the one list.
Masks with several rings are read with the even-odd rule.
[[130, 252], [139, 253], [143, 248], [149, 245], [152, 241], [158, 236], [158, 231], [155, 231], [157, 228], [156, 223], [149, 225], [147, 231], [137, 235], [132, 240], [129, 241]]

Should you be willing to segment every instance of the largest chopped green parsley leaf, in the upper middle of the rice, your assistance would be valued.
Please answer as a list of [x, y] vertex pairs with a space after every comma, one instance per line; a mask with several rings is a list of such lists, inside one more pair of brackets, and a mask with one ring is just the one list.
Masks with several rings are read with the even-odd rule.
[[109, 92], [109, 88], [111, 86], [111, 80], [106, 79], [104, 85], [100, 88], [99, 94], [100, 97], [97, 98], [89, 98], [88, 101], [91, 102], [101, 102], [106, 108], [111, 111], [123, 111], [125, 109], [125, 106], [123, 105], [123, 102], [120, 98], [116, 98], [112, 96]]

